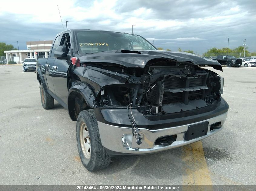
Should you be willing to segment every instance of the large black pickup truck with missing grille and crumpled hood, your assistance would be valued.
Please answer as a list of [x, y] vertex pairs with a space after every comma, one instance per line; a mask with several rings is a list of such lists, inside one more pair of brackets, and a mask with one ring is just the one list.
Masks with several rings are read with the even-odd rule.
[[79, 156], [94, 171], [114, 156], [164, 151], [223, 129], [223, 78], [198, 65], [222, 71], [216, 61], [158, 51], [139, 35], [78, 29], [56, 36], [36, 72], [43, 108], [57, 100], [77, 121]]

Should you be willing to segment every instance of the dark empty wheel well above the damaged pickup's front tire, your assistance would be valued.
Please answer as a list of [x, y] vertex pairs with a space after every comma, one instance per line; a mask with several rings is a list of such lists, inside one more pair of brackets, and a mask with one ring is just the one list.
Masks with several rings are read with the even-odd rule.
[[83, 110], [91, 109], [87, 104], [83, 96], [77, 92], [72, 91], [68, 96], [68, 113], [73, 121], [76, 121], [78, 115]]

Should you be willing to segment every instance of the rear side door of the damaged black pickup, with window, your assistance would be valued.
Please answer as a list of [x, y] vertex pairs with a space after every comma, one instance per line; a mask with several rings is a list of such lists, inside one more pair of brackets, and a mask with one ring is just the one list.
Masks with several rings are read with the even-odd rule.
[[61, 35], [56, 37], [56, 39], [53, 43], [53, 46], [52, 46], [52, 50], [51, 50], [49, 57], [47, 59], [47, 62], [45, 64], [45, 75], [46, 75], [46, 81], [48, 84], [48, 88], [54, 94], [55, 94], [55, 91], [54, 91], [54, 85], [53, 85], [53, 72], [54, 72], [53, 64], [54, 64], [54, 61], [56, 58], [54, 57], [53, 53], [59, 46], [60, 41], [61, 41]]

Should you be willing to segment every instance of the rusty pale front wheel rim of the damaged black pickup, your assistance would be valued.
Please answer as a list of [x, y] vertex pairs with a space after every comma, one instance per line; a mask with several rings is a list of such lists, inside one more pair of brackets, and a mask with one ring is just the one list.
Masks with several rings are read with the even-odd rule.
[[80, 125], [80, 143], [85, 158], [89, 159], [91, 157], [91, 140], [89, 131], [84, 122]]

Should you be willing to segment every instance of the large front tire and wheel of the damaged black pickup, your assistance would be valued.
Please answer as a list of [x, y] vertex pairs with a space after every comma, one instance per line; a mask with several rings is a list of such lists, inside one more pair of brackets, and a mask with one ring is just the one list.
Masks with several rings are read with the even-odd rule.
[[[84, 130], [87, 130], [88, 138], [84, 138], [85, 135], [82, 134]], [[76, 122], [76, 142], [81, 162], [87, 170], [96, 171], [108, 167], [111, 158], [101, 145], [98, 122], [93, 110], [79, 113]], [[90, 145], [88, 151], [85, 151], [83, 146], [86, 143]]]

